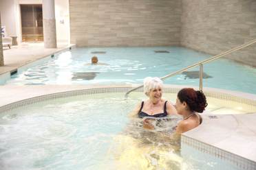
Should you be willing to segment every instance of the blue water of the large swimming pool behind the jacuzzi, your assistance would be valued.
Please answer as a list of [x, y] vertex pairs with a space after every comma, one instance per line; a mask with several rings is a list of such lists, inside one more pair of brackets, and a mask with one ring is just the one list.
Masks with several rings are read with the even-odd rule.
[[[160, 51], [161, 53], [156, 53]], [[163, 53], [168, 51], [169, 53]], [[87, 65], [92, 56], [100, 63]], [[210, 56], [182, 47], [76, 48], [13, 75], [7, 84], [140, 84], [147, 77], [163, 77]], [[199, 68], [176, 75], [166, 84], [199, 85]], [[203, 85], [255, 93], [256, 69], [219, 59], [204, 64]]]

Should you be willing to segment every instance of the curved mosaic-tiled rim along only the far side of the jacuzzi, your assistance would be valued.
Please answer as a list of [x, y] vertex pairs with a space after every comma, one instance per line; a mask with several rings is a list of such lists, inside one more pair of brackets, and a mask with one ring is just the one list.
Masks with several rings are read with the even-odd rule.
[[[128, 90], [131, 90], [131, 88], [132, 88], [131, 86], [97, 87], [97, 88], [85, 88], [85, 89], [79, 89], [79, 90], [66, 90], [66, 91], [58, 92], [58, 93], [50, 93], [50, 94], [46, 94], [46, 95], [39, 95], [39, 96], [36, 96], [36, 97], [30, 97], [28, 99], [22, 99], [22, 100], [19, 100], [19, 101], [14, 101], [10, 104], [0, 106], [0, 115], [3, 112], [7, 112], [9, 110], [19, 108], [21, 106], [35, 104], [37, 102], [45, 101], [45, 100], [49, 100], [49, 99], [74, 97], [74, 96], [78, 96], [78, 95], [92, 95], [92, 94], [99, 94], [99, 93], [124, 93], [124, 97], [125, 97], [125, 93]], [[164, 87], [164, 93], [175, 93], [175, 94], [177, 94], [178, 91], [181, 88], [182, 87], [177, 87], [177, 86], [175, 86], [175, 87], [165, 86]], [[239, 102], [240, 104], [247, 104], [248, 106], [251, 106], [253, 109], [256, 110], [256, 98], [255, 99], [247, 99], [247, 98], [237, 96], [237, 95], [217, 92], [215, 90], [210, 91], [210, 90], [204, 90], [204, 94], [206, 95], [206, 97], [213, 97], [213, 98], [216, 98], [216, 99], [223, 99], [225, 101], [235, 101], [235, 102]], [[135, 91], [136, 92], [143, 92], [143, 88], [139, 88]]]

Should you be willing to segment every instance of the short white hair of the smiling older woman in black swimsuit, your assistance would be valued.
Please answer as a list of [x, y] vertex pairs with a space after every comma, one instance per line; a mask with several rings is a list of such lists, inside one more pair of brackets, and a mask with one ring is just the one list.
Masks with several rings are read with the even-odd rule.
[[149, 95], [149, 91], [156, 89], [156, 88], [162, 88], [163, 83], [162, 80], [158, 77], [146, 77], [144, 79], [144, 93], [145, 95]]

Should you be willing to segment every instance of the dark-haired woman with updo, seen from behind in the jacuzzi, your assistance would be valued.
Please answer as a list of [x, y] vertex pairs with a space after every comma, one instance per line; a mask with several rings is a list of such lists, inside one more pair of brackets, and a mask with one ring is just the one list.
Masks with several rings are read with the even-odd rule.
[[198, 112], [203, 112], [207, 106], [206, 97], [200, 90], [182, 88], [176, 99], [176, 110], [182, 115], [183, 120], [176, 127], [176, 133], [182, 134], [198, 127], [202, 123], [202, 117]]

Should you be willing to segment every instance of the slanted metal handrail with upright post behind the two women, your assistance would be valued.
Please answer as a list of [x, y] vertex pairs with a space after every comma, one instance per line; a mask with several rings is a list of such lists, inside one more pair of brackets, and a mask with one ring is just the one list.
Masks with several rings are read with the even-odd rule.
[[[190, 66], [187, 66], [187, 67], [184, 68], [184, 69], [181, 69], [181, 70], [179, 70], [179, 71], [175, 71], [175, 72], [173, 72], [173, 73], [170, 73], [169, 75], [165, 75], [164, 77], [160, 77], [160, 79], [161, 79], [161, 80], [164, 80], [164, 79], [166, 79], [166, 78], [168, 78], [168, 77], [172, 77], [172, 76], [174, 76], [174, 75], [178, 75], [178, 74], [182, 73], [183, 71], [192, 69], [192, 68], [194, 68], [195, 66], [199, 66], [199, 65], [200, 65], [200, 90], [202, 90], [202, 77], [203, 77], [202, 65], [203, 65], [203, 64], [208, 63], [208, 62], [212, 62], [213, 60], [217, 60], [218, 58], [222, 58], [223, 56], [226, 56], [226, 55], [229, 54], [229, 53], [233, 53], [234, 51], [237, 51], [237, 50], [239, 50], [239, 49], [243, 49], [243, 48], [245, 48], [245, 47], [248, 47], [248, 46], [250, 46], [250, 45], [253, 45], [255, 42], [256, 42], [256, 39], [255, 39], [255, 40], [251, 40], [250, 42], [244, 43], [243, 45], [239, 45], [239, 46], [237, 46], [237, 47], [235, 47], [235, 48], [233, 48], [233, 49], [230, 49], [230, 50], [228, 50], [228, 51], [225, 51], [225, 52], [223, 52], [223, 53], [220, 53], [220, 54], [218, 54], [218, 55], [216, 55], [216, 56], [213, 56], [213, 57], [208, 58], [208, 59], [206, 59], [206, 60], [203, 60], [203, 61], [201, 61], [201, 62], [198, 62], [198, 63], [192, 64], [192, 65], [190, 65]], [[137, 90], [138, 88], [141, 88], [142, 86], [143, 86], [143, 84], [140, 85], [140, 86], [137, 86], [136, 88], [132, 88], [131, 90], [128, 90], [127, 93], [125, 93], [125, 97], [127, 97], [127, 96], [129, 95], [129, 93], [131, 93], [132, 91]]]

